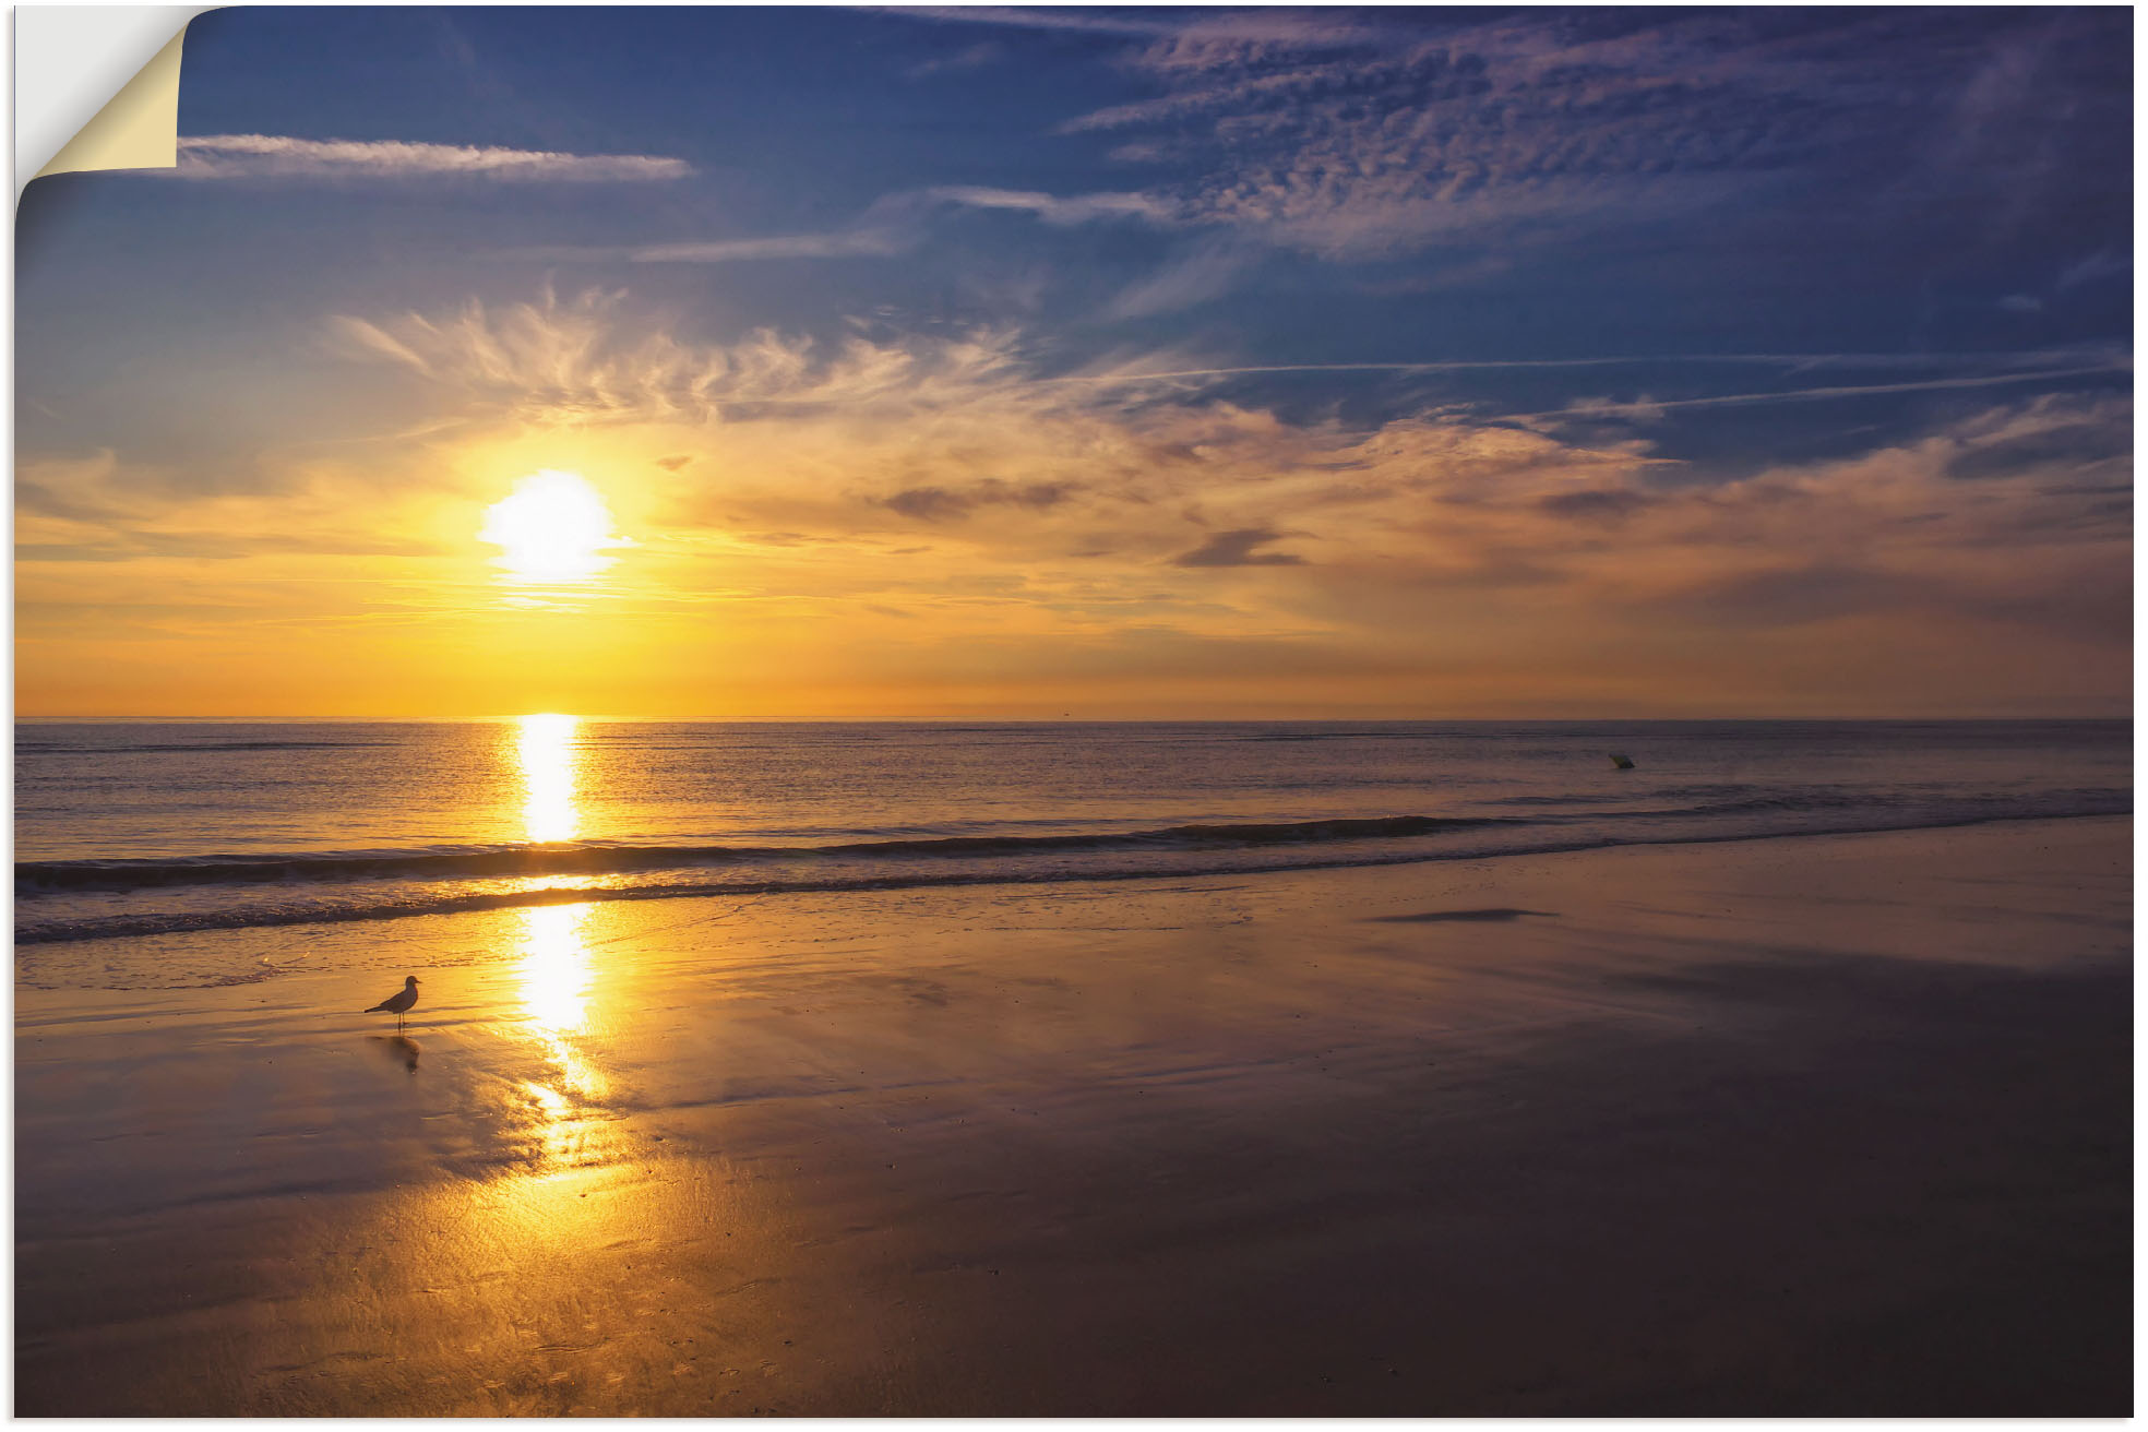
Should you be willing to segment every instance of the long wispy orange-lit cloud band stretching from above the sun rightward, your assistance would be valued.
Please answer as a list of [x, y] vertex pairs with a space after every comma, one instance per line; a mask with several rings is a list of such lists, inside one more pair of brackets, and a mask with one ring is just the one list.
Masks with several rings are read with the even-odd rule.
[[[1428, 408], [1353, 427], [1287, 421], [1216, 389], [1130, 395], [1113, 382], [1046, 380], [1014, 331], [857, 331], [838, 344], [760, 331], [702, 344], [604, 292], [342, 318], [337, 328], [352, 356], [421, 374], [485, 421], [644, 423], [666, 432], [651, 457], [659, 470], [700, 472], [690, 459], [705, 442], [711, 472], [778, 472], [758, 513], [771, 530], [842, 537], [879, 513], [883, 524], [943, 530], [960, 522], [986, 543], [1016, 524], [1031, 535], [1022, 541], [1050, 545], [1070, 528], [1087, 539], [1119, 524], [1111, 550], [1184, 569], [1340, 562], [1351, 550], [1396, 562], [1506, 550], [1555, 571], [1598, 554], [1592, 537], [1577, 537], [1579, 520], [1652, 532], [1665, 552], [1710, 547], [1725, 569], [1755, 541], [1770, 560], [1884, 565], [1892, 545], [1959, 539], [1968, 552], [2077, 526], [2122, 481], [2131, 432], [2131, 404], [2118, 395], [2041, 395], [1864, 457], [1693, 485], [1665, 483], [1648, 442], [1574, 440], [1510, 417]], [[1796, 354], [1733, 356], [1787, 359]], [[1126, 367], [1181, 380], [1246, 371]], [[1927, 382], [1968, 389], [1991, 378]], [[1815, 391], [1768, 397], [1806, 401]], [[743, 451], [758, 457], [741, 462]], [[851, 526], [829, 530], [833, 513]], [[984, 517], [992, 522], [977, 526]], [[1321, 556], [1267, 552], [1280, 537]]]

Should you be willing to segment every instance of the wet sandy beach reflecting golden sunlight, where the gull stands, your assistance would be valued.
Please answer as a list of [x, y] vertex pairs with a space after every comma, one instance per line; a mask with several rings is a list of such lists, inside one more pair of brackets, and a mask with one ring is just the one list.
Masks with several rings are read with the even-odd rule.
[[296, 951], [17, 992], [19, 1415], [2131, 1413], [2129, 820]]

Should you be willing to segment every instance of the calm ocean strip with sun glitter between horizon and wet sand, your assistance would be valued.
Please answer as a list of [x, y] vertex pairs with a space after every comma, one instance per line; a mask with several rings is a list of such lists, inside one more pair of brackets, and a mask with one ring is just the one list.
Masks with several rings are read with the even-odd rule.
[[142, 981], [202, 932], [563, 902], [2124, 814], [2131, 743], [2129, 721], [24, 724], [17, 979]]

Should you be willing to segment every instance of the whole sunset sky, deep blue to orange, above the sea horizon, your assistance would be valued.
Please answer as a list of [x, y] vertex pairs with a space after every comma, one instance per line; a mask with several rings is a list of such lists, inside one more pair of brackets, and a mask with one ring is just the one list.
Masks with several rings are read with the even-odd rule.
[[17, 715], [2129, 715], [2131, 24], [215, 11]]

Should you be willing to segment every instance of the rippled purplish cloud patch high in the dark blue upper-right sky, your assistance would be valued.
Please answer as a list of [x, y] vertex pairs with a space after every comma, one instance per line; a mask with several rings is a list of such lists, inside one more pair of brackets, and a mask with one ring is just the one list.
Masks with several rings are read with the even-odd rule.
[[1781, 103], [1710, 86], [1699, 67], [1675, 101], [1686, 114], [1665, 114], [1682, 45], [1611, 52], [1553, 36], [1534, 19], [1443, 34], [1188, 28], [1128, 60], [1164, 94], [1061, 129], [1164, 127], [1171, 152], [1207, 170], [1171, 195], [1184, 221], [1330, 258], [1690, 208], [1789, 144], [1787, 116], [1770, 116]]

